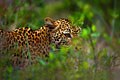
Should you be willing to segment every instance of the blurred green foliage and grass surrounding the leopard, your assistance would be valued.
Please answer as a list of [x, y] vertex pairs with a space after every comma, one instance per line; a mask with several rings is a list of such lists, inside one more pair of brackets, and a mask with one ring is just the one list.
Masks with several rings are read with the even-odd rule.
[[119, 0], [0, 0], [0, 29], [39, 29], [45, 17], [68, 18], [82, 28], [69, 47], [56, 51], [51, 46], [48, 63], [39, 59], [25, 70], [14, 70], [1, 58], [0, 79], [119, 80], [119, 5]]

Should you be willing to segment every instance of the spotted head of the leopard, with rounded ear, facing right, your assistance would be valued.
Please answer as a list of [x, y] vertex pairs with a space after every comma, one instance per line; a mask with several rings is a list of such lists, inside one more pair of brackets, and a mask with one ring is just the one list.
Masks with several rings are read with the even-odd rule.
[[65, 18], [53, 20], [48, 17], [45, 19], [45, 23], [51, 29], [52, 43], [57, 46], [69, 44], [71, 39], [78, 35], [81, 30], [80, 27], [71, 25], [71, 22]]

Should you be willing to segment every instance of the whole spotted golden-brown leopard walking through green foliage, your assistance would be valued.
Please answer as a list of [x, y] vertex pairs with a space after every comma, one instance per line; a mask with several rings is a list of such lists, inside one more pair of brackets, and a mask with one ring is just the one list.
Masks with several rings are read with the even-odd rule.
[[10, 53], [12, 65], [22, 69], [36, 63], [38, 58], [49, 57], [50, 44], [69, 45], [81, 31], [66, 18], [46, 17], [44, 21], [44, 26], [36, 30], [29, 27], [12, 31], [0, 29], [0, 54]]

